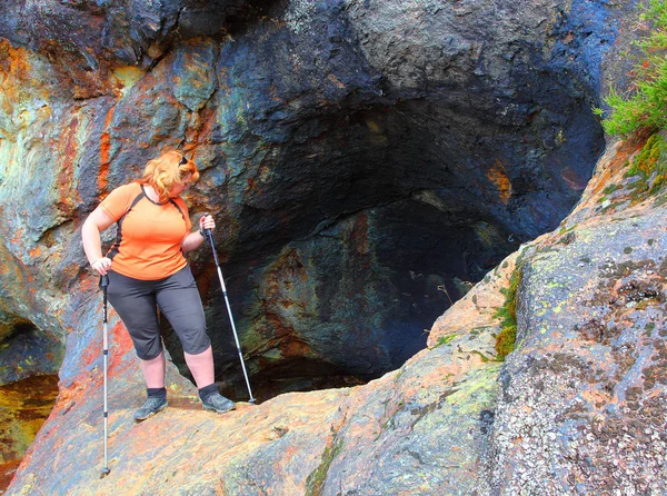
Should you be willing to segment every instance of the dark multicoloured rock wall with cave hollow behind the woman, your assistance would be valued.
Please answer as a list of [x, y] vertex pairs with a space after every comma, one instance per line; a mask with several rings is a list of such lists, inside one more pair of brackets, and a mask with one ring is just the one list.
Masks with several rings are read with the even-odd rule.
[[[624, 14], [557, 0], [1, 9], [8, 321], [61, 341], [94, 327], [77, 310], [92, 288], [77, 229], [180, 146], [202, 169], [193, 215], [222, 226], [248, 367], [271, 389], [397, 368], [470, 281], [559, 222], [604, 146], [590, 107]], [[238, 383], [211, 261], [191, 260], [219, 378]]]

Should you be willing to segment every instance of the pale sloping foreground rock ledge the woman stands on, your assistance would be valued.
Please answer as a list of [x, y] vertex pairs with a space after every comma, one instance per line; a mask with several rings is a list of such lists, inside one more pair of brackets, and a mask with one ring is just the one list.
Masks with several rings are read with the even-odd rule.
[[[139, 371], [117, 340], [110, 475], [99, 478], [92, 360], [9, 494], [665, 493], [667, 191], [637, 195], [627, 172], [640, 147], [610, 146], [559, 229], [522, 245], [436, 321], [427, 349], [367, 385], [215, 416], [170, 375], [172, 406], [135, 425]], [[498, 309], [517, 274], [518, 345], [500, 363]]]

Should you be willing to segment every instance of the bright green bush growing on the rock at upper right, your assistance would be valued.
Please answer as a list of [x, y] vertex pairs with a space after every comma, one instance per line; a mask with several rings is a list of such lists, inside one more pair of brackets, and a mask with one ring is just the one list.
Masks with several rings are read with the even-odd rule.
[[[643, 19], [653, 29], [636, 42], [641, 60], [633, 71], [633, 86], [627, 93], [611, 89], [605, 99], [611, 115], [603, 120], [603, 127], [609, 135], [627, 137], [667, 129], [667, 0], [650, 0]], [[601, 109], [594, 111], [603, 116]]]

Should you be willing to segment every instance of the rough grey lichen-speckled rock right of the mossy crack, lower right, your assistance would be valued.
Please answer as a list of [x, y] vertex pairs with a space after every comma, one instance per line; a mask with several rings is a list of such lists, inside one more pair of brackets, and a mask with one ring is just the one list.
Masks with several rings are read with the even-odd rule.
[[501, 494], [667, 490], [667, 191], [637, 198], [633, 145], [611, 147], [561, 229], [519, 256], [519, 346], [494, 425]]

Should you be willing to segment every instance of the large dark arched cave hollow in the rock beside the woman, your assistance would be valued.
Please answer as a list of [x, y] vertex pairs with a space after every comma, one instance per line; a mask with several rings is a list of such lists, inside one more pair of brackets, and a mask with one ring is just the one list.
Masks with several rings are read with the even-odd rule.
[[[233, 245], [216, 236], [251, 384], [275, 396], [399, 368], [472, 285], [558, 226], [605, 142], [591, 105], [544, 83], [563, 100], [511, 120], [482, 98], [490, 88], [476, 100], [487, 112], [425, 98], [325, 109], [215, 191], [236, 198]], [[242, 399], [225, 299], [200, 251], [217, 379]], [[183, 371], [179, 345], [167, 346]]]

